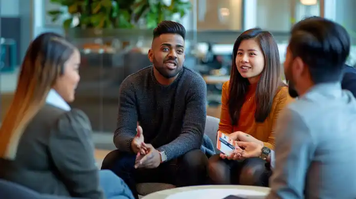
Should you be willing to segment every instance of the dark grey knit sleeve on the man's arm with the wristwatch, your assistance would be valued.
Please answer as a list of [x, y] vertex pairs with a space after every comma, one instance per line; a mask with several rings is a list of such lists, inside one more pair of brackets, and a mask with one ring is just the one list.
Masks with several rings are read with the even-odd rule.
[[177, 158], [192, 149], [200, 149], [206, 121], [206, 84], [200, 77], [190, 85], [187, 105], [180, 135], [172, 142], [159, 147], [167, 160]]

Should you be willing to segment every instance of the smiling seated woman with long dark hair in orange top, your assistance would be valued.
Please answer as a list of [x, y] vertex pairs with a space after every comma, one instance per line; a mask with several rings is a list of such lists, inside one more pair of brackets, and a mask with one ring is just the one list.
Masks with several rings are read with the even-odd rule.
[[[234, 44], [230, 80], [223, 84], [219, 131], [274, 149], [275, 123], [289, 100], [273, 36], [259, 28], [242, 33]], [[219, 154], [209, 159], [208, 175], [213, 184], [263, 186], [265, 163]]]

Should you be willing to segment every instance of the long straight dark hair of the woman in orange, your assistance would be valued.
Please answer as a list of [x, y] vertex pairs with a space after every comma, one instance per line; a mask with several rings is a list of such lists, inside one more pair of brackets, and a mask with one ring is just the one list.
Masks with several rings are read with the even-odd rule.
[[239, 46], [243, 40], [254, 39], [261, 47], [265, 56], [265, 68], [261, 73], [256, 89], [256, 122], [263, 122], [269, 115], [272, 107], [273, 98], [282, 85], [281, 64], [276, 40], [268, 31], [260, 28], [253, 28], [243, 32], [235, 41], [229, 85], [229, 113], [233, 125], [238, 124], [241, 107], [245, 102], [246, 93], [249, 85], [247, 78], [243, 78], [236, 66], [236, 56]]

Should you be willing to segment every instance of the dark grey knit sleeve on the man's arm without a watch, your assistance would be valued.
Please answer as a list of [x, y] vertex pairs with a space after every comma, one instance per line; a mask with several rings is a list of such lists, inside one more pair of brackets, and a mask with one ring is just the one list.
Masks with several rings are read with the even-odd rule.
[[114, 144], [119, 151], [132, 152], [131, 142], [136, 135], [137, 110], [134, 87], [130, 79], [120, 85], [119, 108], [117, 114]]

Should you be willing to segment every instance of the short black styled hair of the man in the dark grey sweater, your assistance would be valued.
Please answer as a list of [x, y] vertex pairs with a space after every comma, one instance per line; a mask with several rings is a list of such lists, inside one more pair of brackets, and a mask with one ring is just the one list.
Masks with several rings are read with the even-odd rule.
[[155, 30], [153, 30], [153, 38], [155, 39], [162, 34], [178, 34], [185, 40], [184, 26], [175, 21], [164, 20], [160, 22]]

